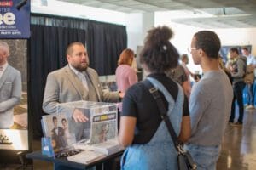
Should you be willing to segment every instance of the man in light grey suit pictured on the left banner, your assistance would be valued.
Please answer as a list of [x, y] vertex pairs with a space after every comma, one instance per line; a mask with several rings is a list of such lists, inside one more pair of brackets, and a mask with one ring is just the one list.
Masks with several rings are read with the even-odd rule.
[[20, 103], [21, 74], [9, 65], [9, 45], [0, 41], [0, 128], [14, 125], [14, 107]]

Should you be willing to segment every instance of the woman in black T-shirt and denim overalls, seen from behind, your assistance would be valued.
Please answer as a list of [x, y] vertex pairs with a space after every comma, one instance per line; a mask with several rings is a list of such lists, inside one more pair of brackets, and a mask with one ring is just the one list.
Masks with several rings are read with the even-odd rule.
[[[177, 66], [179, 58], [169, 41], [171, 37], [172, 31], [166, 26], [148, 31], [140, 61], [149, 73], [148, 81], [160, 92], [178, 139], [185, 142], [190, 136], [188, 99], [183, 88], [165, 74]], [[121, 159], [122, 169], [177, 169], [177, 151], [166, 123], [160, 118], [153, 95], [142, 82], [126, 91], [119, 143], [127, 147]]]

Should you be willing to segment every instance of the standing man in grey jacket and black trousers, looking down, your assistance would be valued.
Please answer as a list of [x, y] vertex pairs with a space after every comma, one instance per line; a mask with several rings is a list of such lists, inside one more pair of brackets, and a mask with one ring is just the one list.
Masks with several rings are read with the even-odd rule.
[[[234, 126], [241, 126], [243, 120], [243, 88], [245, 87], [244, 77], [246, 74], [246, 67], [247, 67], [247, 58], [244, 56], [239, 55], [237, 48], [230, 48], [230, 59], [235, 60], [234, 65], [231, 66], [230, 71], [233, 77], [233, 91], [234, 91], [234, 99], [232, 101], [231, 106], [231, 115], [230, 115], [230, 123]], [[239, 106], [239, 117], [237, 122], [234, 123], [235, 119], [235, 102], [237, 100], [237, 104]]]

